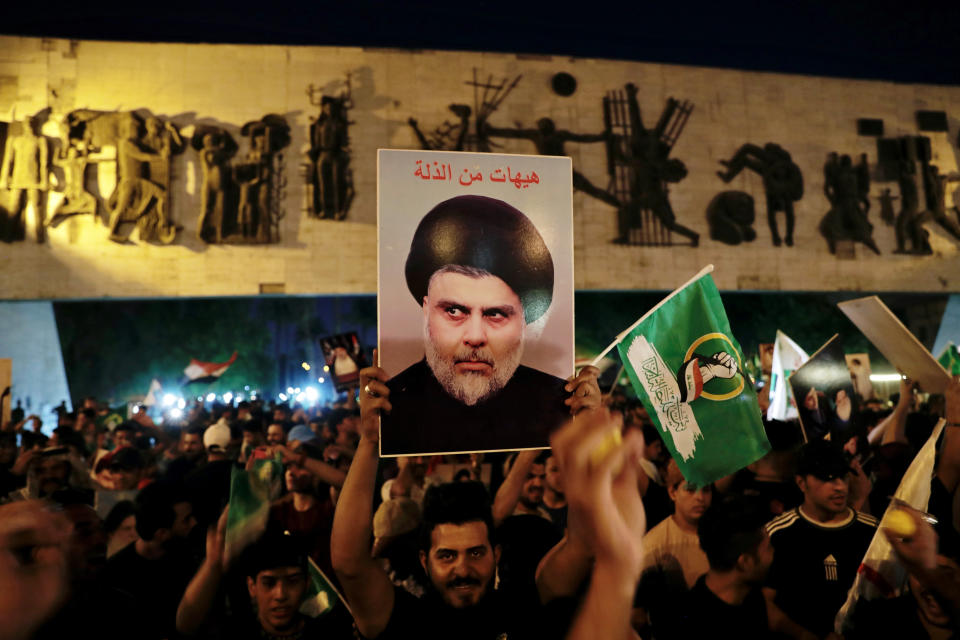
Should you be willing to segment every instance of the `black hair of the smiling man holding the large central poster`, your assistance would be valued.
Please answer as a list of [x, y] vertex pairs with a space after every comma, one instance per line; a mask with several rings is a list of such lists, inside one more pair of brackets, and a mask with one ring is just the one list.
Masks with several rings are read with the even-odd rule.
[[495, 544], [490, 494], [482, 482], [449, 482], [430, 487], [423, 496], [420, 550], [430, 550], [431, 535], [437, 525], [467, 522], [487, 525], [490, 546]]

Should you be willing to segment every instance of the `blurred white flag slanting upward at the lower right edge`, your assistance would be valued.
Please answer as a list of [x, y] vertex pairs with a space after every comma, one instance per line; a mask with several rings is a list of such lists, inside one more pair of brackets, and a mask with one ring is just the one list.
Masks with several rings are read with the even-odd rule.
[[877, 532], [863, 556], [853, 586], [847, 592], [847, 601], [840, 607], [834, 620], [834, 630], [843, 635], [855, 626], [857, 618], [856, 604], [861, 598], [891, 598], [904, 592], [907, 584], [907, 570], [897, 560], [893, 546], [883, 534], [890, 522], [890, 514], [897, 508], [898, 501], [904, 502], [918, 511], [926, 511], [930, 503], [930, 481], [933, 479], [934, 463], [937, 457], [937, 440], [946, 421], [941, 419], [927, 438], [927, 443], [917, 452], [903, 480], [893, 494], [893, 500], [880, 519]]

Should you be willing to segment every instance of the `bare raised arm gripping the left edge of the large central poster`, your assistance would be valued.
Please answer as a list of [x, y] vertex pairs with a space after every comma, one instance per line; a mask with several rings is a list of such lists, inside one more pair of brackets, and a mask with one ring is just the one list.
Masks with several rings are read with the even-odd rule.
[[330, 536], [333, 569], [366, 638], [375, 638], [386, 628], [394, 603], [393, 585], [370, 555], [380, 412], [391, 409], [386, 381], [387, 374], [379, 367], [360, 372], [360, 444], [337, 501]]

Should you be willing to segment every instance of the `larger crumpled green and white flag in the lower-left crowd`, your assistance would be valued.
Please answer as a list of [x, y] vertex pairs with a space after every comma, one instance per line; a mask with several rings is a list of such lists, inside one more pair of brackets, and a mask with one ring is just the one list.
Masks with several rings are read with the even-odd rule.
[[230, 511], [224, 553], [230, 560], [260, 539], [267, 530], [270, 503], [280, 495], [283, 465], [279, 460], [257, 460], [250, 471], [230, 473]]

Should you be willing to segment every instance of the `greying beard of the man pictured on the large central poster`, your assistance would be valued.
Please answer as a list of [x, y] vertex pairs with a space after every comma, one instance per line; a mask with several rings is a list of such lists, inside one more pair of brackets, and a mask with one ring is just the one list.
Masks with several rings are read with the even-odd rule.
[[[424, 325], [423, 333], [427, 365], [433, 371], [437, 382], [444, 391], [468, 407], [492, 398], [507, 386], [517, 367], [520, 366], [520, 358], [523, 357], [523, 334], [515, 347], [509, 351], [507, 358], [497, 362], [490, 350], [486, 348], [462, 347], [453, 354], [453, 357], [444, 357], [437, 351], [428, 324]], [[492, 367], [493, 373], [489, 376], [479, 371], [458, 373], [456, 363], [463, 361], [486, 362]]]

